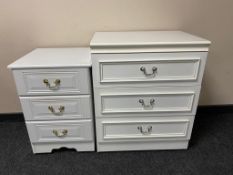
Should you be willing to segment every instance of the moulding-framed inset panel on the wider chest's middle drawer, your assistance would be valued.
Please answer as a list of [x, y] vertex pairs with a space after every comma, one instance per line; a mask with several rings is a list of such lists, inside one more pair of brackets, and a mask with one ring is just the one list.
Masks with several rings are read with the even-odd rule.
[[[190, 112], [194, 93], [133, 94], [101, 96], [102, 113]], [[141, 101], [140, 101], [141, 100]], [[151, 102], [152, 101], [152, 102]], [[141, 103], [140, 103], [141, 102]]]

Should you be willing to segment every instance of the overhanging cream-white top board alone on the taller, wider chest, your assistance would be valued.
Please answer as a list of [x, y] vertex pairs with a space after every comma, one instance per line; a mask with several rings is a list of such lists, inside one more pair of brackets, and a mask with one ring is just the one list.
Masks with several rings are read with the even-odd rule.
[[91, 46], [132, 46], [138, 45], [189, 45], [206, 44], [210, 41], [182, 31], [129, 31], [129, 32], [96, 32]]

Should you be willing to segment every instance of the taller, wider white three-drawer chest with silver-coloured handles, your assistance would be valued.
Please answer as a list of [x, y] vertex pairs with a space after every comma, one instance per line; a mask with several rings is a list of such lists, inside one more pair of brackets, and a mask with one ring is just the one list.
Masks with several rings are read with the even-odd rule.
[[97, 151], [186, 149], [210, 41], [181, 31], [97, 32]]

